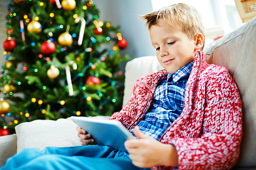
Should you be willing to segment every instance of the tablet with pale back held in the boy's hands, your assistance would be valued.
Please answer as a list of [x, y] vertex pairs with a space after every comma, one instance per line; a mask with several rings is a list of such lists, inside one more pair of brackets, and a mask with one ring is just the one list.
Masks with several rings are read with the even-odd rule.
[[135, 138], [119, 121], [92, 117], [71, 116], [80, 128], [87, 131], [100, 145], [107, 145], [115, 150], [127, 152], [124, 142]]

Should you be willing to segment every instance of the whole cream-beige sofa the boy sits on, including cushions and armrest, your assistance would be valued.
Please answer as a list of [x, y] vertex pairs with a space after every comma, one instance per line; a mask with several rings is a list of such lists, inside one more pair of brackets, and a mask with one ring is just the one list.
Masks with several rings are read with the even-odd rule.
[[[243, 137], [240, 159], [232, 169], [256, 169], [256, 17], [239, 29], [205, 46], [208, 63], [223, 65], [237, 83], [243, 101]], [[155, 56], [127, 62], [123, 104], [141, 76], [163, 69]], [[105, 116], [96, 118], [106, 119]], [[15, 127], [16, 134], [0, 137], [0, 167], [24, 148], [71, 147], [80, 145], [76, 124], [70, 118], [34, 120]]]

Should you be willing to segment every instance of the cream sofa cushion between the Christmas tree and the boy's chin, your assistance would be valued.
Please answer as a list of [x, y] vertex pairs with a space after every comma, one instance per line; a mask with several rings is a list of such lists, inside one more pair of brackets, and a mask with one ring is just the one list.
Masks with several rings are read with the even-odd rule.
[[156, 56], [138, 57], [127, 62], [125, 65], [123, 105], [130, 100], [130, 94], [137, 79], [161, 69], [163, 67], [157, 61]]

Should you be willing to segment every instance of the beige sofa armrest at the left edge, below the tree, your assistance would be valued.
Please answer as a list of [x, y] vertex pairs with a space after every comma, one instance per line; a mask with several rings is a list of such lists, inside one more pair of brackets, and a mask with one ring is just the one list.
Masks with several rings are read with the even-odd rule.
[[17, 152], [17, 136], [7, 135], [0, 137], [0, 167], [6, 160]]

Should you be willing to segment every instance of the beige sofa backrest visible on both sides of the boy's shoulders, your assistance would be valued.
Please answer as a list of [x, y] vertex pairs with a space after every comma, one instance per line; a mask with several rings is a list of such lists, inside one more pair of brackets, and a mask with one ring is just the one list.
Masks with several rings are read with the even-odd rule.
[[[236, 166], [256, 166], [256, 17], [244, 26], [205, 46], [210, 64], [228, 68], [243, 102], [243, 138]], [[130, 99], [135, 81], [163, 69], [156, 56], [135, 58], [125, 66], [123, 105]]]

